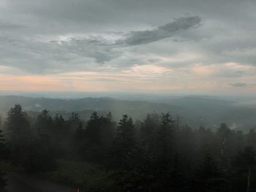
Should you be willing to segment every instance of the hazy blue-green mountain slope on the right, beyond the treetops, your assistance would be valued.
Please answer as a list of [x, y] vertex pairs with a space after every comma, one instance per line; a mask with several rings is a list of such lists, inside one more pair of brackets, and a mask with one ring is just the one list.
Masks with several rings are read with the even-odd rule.
[[227, 123], [231, 128], [249, 129], [256, 125], [255, 101], [241, 102], [233, 99], [185, 96], [163, 102], [181, 107], [183, 109], [181, 115], [192, 125], [200, 123], [203, 126], [217, 128], [219, 123]]

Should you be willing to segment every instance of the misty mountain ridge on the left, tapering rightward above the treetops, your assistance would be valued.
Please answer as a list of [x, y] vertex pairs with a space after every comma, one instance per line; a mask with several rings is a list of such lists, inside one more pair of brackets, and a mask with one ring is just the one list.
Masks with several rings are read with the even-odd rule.
[[121, 115], [128, 114], [132, 118], [144, 118], [148, 112], [170, 112], [177, 111], [178, 107], [163, 103], [152, 103], [148, 101], [124, 101], [111, 98], [84, 98], [84, 99], [47, 99], [47, 98], [29, 98], [23, 96], [0, 96], [0, 111], [6, 113], [10, 107], [15, 104], [21, 104], [23, 110], [29, 112], [40, 112], [44, 109], [50, 112], [86, 113], [99, 111], [102, 113], [112, 112], [118, 119]]

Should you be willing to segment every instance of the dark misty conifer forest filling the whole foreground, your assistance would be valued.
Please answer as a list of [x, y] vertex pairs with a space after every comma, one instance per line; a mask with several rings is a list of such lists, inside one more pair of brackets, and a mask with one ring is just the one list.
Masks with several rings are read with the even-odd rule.
[[190, 128], [170, 113], [29, 117], [19, 104], [0, 120], [2, 188], [19, 172], [82, 191], [256, 191], [255, 128]]

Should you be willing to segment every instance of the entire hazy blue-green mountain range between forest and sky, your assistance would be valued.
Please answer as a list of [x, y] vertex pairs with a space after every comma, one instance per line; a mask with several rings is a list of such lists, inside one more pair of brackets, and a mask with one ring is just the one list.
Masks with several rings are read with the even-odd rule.
[[[253, 101], [252, 101], [253, 102]], [[0, 112], [6, 114], [10, 107], [21, 104], [30, 115], [37, 115], [47, 109], [52, 115], [59, 113], [68, 117], [71, 112], [78, 112], [83, 119], [88, 119], [93, 111], [105, 115], [112, 112], [115, 120], [128, 114], [135, 120], [145, 118], [151, 112], [171, 112], [173, 117], [181, 116], [183, 123], [189, 126], [217, 128], [219, 123], [227, 123], [231, 128], [251, 128], [256, 124], [256, 107], [247, 102], [227, 101], [197, 96], [183, 96], [159, 101], [129, 101], [121, 99], [83, 98], [83, 99], [48, 99], [24, 96], [0, 96]]]

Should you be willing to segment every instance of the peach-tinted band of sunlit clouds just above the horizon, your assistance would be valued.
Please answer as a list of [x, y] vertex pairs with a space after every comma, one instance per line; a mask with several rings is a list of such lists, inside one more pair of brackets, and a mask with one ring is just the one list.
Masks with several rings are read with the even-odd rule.
[[[236, 63], [192, 64], [171, 68], [157, 64], [135, 65], [126, 70], [67, 72], [59, 74], [18, 74], [14, 68], [0, 66], [1, 91], [132, 91], [213, 93], [236, 90], [231, 85], [255, 82], [255, 66]], [[11, 72], [11, 73], [10, 73]], [[244, 73], [247, 73], [243, 76]], [[239, 76], [238, 76], [239, 75]]]

